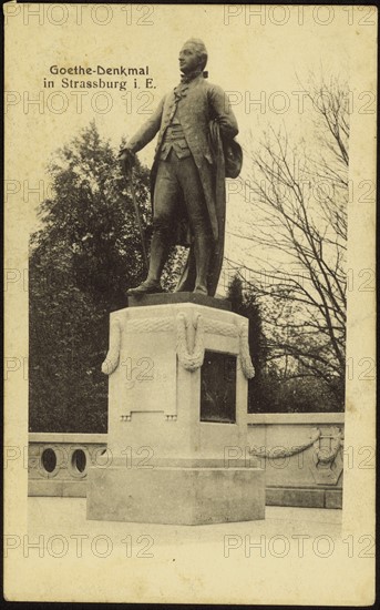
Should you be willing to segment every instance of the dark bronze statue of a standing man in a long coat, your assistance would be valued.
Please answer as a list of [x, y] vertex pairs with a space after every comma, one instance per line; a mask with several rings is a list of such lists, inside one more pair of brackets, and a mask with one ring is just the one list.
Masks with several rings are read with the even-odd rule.
[[158, 132], [150, 270], [127, 294], [162, 292], [161, 274], [174, 244], [189, 245], [176, 291], [215, 294], [224, 248], [226, 151], [238, 128], [225, 92], [207, 82], [206, 63], [202, 40], [185, 42], [181, 83], [121, 152], [125, 167]]

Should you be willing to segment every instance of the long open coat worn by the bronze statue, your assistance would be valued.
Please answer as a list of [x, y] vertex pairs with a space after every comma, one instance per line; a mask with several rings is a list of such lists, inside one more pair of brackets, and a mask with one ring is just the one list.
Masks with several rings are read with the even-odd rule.
[[[220, 87], [206, 81], [203, 74], [181, 85], [178, 100], [175, 91], [171, 91], [161, 100], [155, 112], [129, 141], [127, 146], [133, 152], [138, 152], [158, 133], [152, 167], [152, 191], [154, 191], [161, 146], [166, 128], [176, 112], [199, 173], [213, 232], [214, 251], [209, 265], [208, 293], [214, 295], [223, 262], [225, 225], [225, 176], [220, 139], [222, 141], [232, 140], [238, 133], [238, 128], [226, 93]], [[195, 261], [191, 247], [176, 289], [193, 289], [194, 281]]]

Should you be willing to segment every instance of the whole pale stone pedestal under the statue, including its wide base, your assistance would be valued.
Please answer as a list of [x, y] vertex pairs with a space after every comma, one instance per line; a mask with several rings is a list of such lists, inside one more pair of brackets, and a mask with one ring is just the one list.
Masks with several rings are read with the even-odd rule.
[[247, 445], [248, 321], [184, 293], [111, 314], [109, 444], [89, 471], [88, 519], [212, 523], [263, 519], [264, 470]]

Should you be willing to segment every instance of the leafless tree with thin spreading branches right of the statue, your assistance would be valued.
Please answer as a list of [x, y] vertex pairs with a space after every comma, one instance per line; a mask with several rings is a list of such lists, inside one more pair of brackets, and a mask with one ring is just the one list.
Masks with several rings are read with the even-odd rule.
[[253, 220], [244, 238], [263, 257], [250, 265], [248, 285], [264, 297], [268, 362], [285, 378], [323, 379], [342, 401], [349, 90], [311, 78], [306, 91], [312, 128], [297, 143], [286, 126], [269, 130], [250, 150]]

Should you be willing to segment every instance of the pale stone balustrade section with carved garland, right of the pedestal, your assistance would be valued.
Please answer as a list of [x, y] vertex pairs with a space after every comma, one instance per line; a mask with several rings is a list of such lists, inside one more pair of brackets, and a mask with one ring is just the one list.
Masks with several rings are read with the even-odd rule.
[[266, 504], [341, 508], [343, 413], [248, 416], [248, 459], [266, 470]]

